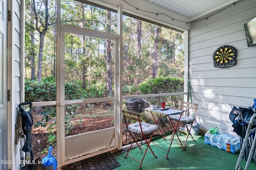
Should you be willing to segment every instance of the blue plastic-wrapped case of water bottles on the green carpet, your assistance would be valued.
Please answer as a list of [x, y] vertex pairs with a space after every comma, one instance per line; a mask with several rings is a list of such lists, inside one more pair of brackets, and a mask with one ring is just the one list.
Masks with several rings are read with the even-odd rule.
[[226, 152], [235, 153], [240, 150], [240, 139], [225, 133], [218, 132], [211, 134], [207, 131], [204, 135], [204, 143], [210, 144], [218, 149], [226, 150]]

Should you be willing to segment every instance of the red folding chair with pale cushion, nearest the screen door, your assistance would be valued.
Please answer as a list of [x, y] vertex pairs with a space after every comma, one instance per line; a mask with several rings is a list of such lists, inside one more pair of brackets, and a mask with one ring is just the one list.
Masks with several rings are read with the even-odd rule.
[[[140, 162], [140, 169], [141, 169], [142, 162], [143, 162], [144, 157], [147, 152], [150, 154], [153, 154], [154, 157], [157, 158], [157, 156], [154, 154], [153, 150], [150, 147], [150, 142], [151, 142], [154, 132], [158, 131], [159, 126], [152, 125], [150, 123], [146, 123], [146, 122], [142, 121], [142, 119], [140, 118], [140, 113], [133, 113], [130, 111], [125, 111], [125, 110], [122, 110], [122, 113], [123, 113], [123, 117], [125, 119], [127, 131], [133, 139], [132, 144], [133, 143], [137, 144], [137, 146], [140, 149], [140, 154], [142, 154], [142, 150], [145, 151], [142, 160], [138, 160], [129, 154], [130, 149], [132, 148], [132, 144], [131, 144], [127, 151], [127, 154], [126, 154], [126, 156], [124, 156], [124, 158], [126, 158], [127, 156], [130, 156], [137, 162]], [[136, 123], [132, 123], [132, 124], [128, 125], [127, 119], [134, 120], [134, 121], [136, 121]], [[149, 139], [146, 138], [148, 136], [150, 136]], [[146, 149], [142, 148], [142, 142], [139, 145], [139, 143], [137, 142], [137, 141], [139, 141], [138, 139], [141, 139], [141, 140], [143, 139], [146, 142], [146, 146], [147, 146]], [[148, 150], [148, 148], [150, 149], [151, 152]]]

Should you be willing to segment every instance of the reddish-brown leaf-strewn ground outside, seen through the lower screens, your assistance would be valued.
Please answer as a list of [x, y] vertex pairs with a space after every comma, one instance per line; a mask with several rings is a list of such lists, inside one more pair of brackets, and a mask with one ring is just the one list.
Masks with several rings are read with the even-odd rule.
[[[42, 116], [41, 115], [33, 115], [34, 118], [34, 124], [37, 121], [41, 121]], [[86, 133], [89, 131], [95, 131], [99, 129], [105, 129], [108, 127], [113, 127], [113, 120], [114, 117], [108, 116], [108, 117], [84, 117], [81, 119], [72, 119], [73, 122], [82, 122], [82, 123], [75, 123], [75, 125], [72, 127], [73, 129], [69, 131], [68, 135], [76, 135], [80, 133]], [[54, 119], [48, 122], [48, 124], [54, 123]], [[126, 132], [124, 131], [125, 123], [123, 122], [123, 135], [122, 135], [122, 143], [124, 145], [128, 145], [131, 143], [131, 139], [129, 138], [126, 140]], [[168, 123], [163, 123], [160, 125], [160, 129], [163, 133], [168, 133], [172, 131], [172, 127]], [[52, 156], [56, 157], [56, 138], [53, 141], [48, 140], [48, 136], [50, 134], [56, 135], [56, 126], [51, 127], [47, 129], [46, 127], [33, 127], [32, 128], [32, 140], [33, 140], [33, 154], [34, 159], [41, 157], [44, 158], [48, 155], [48, 146], [52, 145]], [[156, 133], [156, 135], [160, 135], [160, 131]]]

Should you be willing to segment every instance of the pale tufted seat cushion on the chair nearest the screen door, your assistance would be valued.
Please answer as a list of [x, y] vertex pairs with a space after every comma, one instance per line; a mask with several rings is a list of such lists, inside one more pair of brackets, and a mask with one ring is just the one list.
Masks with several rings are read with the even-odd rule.
[[[159, 127], [158, 125], [152, 125], [149, 123], [141, 122], [141, 127], [144, 135], [149, 135], [151, 133], [154, 133], [155, 131], [158, 131]], [[128, 126], [128, 131], [141, 135], [141, 129], [140, 129], [140, 123], [133, 123]]]

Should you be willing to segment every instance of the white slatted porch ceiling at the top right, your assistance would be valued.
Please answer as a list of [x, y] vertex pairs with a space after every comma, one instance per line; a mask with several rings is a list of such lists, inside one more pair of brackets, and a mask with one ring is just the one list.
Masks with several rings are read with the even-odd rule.
[[166, 8], [183, 16], [190, 21], [200, 20], [219, 12], [241, 0], [145, 0]]

